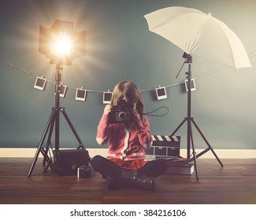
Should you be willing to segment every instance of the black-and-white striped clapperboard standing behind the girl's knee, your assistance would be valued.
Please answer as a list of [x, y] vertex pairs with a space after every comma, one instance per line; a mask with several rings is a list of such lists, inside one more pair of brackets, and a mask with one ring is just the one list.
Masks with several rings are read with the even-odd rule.
[[180, 136], [152, 135], [153, 144], [145, 149], [146, 159], [180, 156]]

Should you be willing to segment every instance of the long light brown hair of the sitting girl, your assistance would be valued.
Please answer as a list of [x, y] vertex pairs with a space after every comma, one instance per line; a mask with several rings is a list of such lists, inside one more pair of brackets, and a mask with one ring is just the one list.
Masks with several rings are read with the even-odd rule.
[[143, 104], [143, 98], [141, 97], [141, 93], [139, 91], [138, 86], [135, 85], [135, 83], [124, 81], [121, 83], [118, 83], [117, 86], [113, 89], [113, 95], [111, 98], [111, 104], [110, 105], [117, 105], [117, 101], [121, 100], [126, 96], [128, 98], [128, 101], [132, 103], [136, 103], [136, 109], [139, 112], [140, 119], [144, 124], [145, 116], [143, 116], [144, 113], [144, 104]]

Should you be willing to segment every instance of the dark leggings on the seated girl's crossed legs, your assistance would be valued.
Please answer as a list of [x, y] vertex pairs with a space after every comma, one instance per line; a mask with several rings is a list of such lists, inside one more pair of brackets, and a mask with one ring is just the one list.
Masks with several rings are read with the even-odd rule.
[[[112, 178], [121, 177], [121, 172], [123, 168], [119, 167], [113, 161], [106, 159], [103, 156], [95, 156], [91, 159], [91, 166], [98, 173], [102, 174], [103, 177], [109, 175]], [[148, 161], [143, 167], [137, 170], [138, 177], [147, 175], [149, 177], [157, 178], [161, 174], [165, 173], [167, 169], [167, 163], [165, 159], [157, 159]]]

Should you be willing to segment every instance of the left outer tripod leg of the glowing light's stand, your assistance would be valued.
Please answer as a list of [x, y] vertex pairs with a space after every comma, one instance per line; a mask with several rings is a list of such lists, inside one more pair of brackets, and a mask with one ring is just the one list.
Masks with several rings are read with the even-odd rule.
[[32, 160], [32, 165], [31, 165], [31, 167], [28, 170], [28, 177], [30, 177], [32, 175], [32, 172], [33, 172], [33, 170], [35, 168], [35, 163], [36, 163], [36, 161], [37, 161], [37, 159], [39, 157], [39, 153], [40, 152], [43, 154], [43, 157], [44, 157], [44, 159], [46, 159], [46, 162], [48, 164], [52, 163], [52, 161], [50, 160], [49, 156], [46, 154], [46, 150], [43, 148], [43, 142], [44, 142], [44, 140], [46, 138], [46, 134], [48, 133], [50, 125], [51, 125], [51, 123], [54, 120], [55, 112], [56, 112], [55, 109], [53, 109], [51, 114], [50, 114], [50, 118], [48, 119], [48, 122], [46, 123], [46, 128], [43, 131], [43, 136], [42, 136], [42, 138], [41, 138], [41, 140], [39, 142], [39, 147], [37, 148], [37, 151], [35, 152], [34, 159]]

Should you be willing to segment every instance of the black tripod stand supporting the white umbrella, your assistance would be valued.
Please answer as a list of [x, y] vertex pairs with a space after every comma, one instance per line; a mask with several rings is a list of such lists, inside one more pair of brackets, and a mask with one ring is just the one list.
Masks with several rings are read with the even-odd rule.
[[[211, 147], [210, 143], [206, 140], [205, 136], [202, 134], [202, 131], [199, 129], [198, 125], [195, 123], [194, 118], [191, 117], [191, 76], [192, 76], [191, 63], [192, 63], [192, 57], [190, 54], [187, 54], [187, 53], [184, 53], [183, 57], [186, 58], [186, 60], [184, 61], [184, 64], [188, 64], [188, 72], [186, 72], [186, 75], [187, 75], [187, 77], [186, 77], [187, 78], [187, 117], [184, 118], [184, 120], [180, 123], [180, 125], [176, 128], [176, 130], [173, 131], [173, 134], [171, 134], [171, 135], [173, 136], [174, 134], [176, 134], [176, 132], [180, 129], [180, 127], [182, 127], [183, 124], [187, 122], [187, 160], [189, 162], [194, 161], [195, 175], [196, 175], [196, 179], [198, 180], [199, 179], [198, 178], [198, 169], [197, 169], [198, 167], [197, 167], [196, 159], [199, 156], [202, 156], [203, 154], [205, 154], [206, 152], [211, 150], [211, 152], [213, 152], [213, 155], [215, 156], [217, 161], [221, 164], [221, 167], [223, 167], [223, 164], [221, 163], [221, 160], [217, 157], [217, 154], [213, 151], [213, 148]], [[183, 67], [183, 65], [182, 65], [182, 67]], [[180, 68], [180, 70], [181, 70], [181, 68]], [[180, 74], [180, 72], [179, 72], [179, 74]], [[192, 127], [191, 127], [192, 124], [195, 126], [196, 130], [198, 130], [198, 133], [201, 135], [202, 139], [206, 142], [206, 145], [208, 146], [208, 148], [206, 148], [202, 152], [198, 153], [197, 155], [195, 155], [195, 147], [194, 147], [194, 141], [193, 141], [193, 135], [192, 135]], [[192, 147], [192, 151], [193, 151], [192, 158], [191, 158], [191, 152], [190, 152], [191, 147]]]

